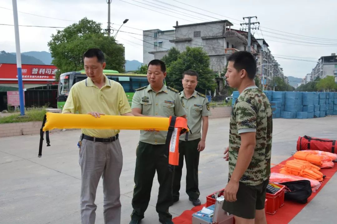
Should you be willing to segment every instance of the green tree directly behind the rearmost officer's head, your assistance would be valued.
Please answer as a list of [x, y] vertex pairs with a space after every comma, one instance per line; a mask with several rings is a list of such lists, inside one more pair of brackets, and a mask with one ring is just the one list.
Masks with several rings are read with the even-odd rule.
[[201, 93], [205, 93], [205, 90], [214, 91], [216, 87], [215, 74], [209, 67], [210, 58], [201, 47], [187, 46], [186, 51], [180, 53], [177, 60], [169, 63], [166, 82], [169, 86], [181, 91], [183, 90], [181, 83], [183, 72], [194, 70], [199, 75], [196, 90]]

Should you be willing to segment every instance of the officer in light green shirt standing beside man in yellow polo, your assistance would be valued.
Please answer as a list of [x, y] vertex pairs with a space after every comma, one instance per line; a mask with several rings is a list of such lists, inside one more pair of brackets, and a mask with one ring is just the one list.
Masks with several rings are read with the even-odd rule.
[[[183, 117], [186, 111], [180, 100], [179, 91], [165, 86], [166, 66], [161, 60], [148, 64], [147, 78], [150, 85], [137, 89], [132, 98], [132, 114], [141, 117]], [[168, 145], [165, 144], [167, 131], [141, 131], [136, 150], [130, 224], [138, 224], [144, 218], [149, 205], [153, 177], [157, 171], [159, 193], [156, 211], [159, 221], [173, 224], [168, 208], [172, 204], [173, 171], [168, 169]]]

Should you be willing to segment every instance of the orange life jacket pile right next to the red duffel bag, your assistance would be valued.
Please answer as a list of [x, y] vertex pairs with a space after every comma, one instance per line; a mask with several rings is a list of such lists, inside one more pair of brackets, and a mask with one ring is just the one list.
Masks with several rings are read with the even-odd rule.
[[332, 155], [329, 156], [327, 155], [327, 152], [322, 152], [322, 151], [317, 152], [317, 151], [311, 151], [311, 150], [303, 150], [303, 151], [297, 151], [294, 154], [294, 158], [297, 160], [308, 161], [309, 163], [316, 165], [320, 168], [332, 168], [334, 167], [334, 163], [332, 162], [331, 157], [333, 157], [334, 154], [333, 153], [330, 153], [330, 154]]

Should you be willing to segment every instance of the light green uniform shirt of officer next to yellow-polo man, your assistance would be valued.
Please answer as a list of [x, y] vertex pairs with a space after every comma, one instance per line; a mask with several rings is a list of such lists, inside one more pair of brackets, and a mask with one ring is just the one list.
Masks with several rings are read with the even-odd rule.
[[[156, 93], [151, 85], [137, 89], [132, 98], [131, 109], [140, 108], [141, 114], [148, 116], [181, 117], [186, 111], [180, 100], [178, 90], [163, 87]], [[141, 130], [140, 141], [149, 144], [165, 144], [167, 131]]]

